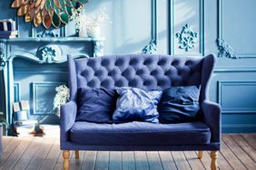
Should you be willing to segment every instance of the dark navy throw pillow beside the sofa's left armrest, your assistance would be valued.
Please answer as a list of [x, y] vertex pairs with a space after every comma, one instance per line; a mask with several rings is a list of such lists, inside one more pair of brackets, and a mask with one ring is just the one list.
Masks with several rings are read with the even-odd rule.
[[113, 123], [112, 115], [119, 95], [110, 89], [79, 89], [76, 121]]

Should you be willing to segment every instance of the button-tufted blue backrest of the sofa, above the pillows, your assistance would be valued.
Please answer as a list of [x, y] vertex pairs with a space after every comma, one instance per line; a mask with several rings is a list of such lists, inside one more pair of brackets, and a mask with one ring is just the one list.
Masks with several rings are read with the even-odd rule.
[[78, 88], [136, 87], [165, 90], [172, 86], [201, 86], [201, 99], [211, 76], [214, 55], [113, 55], [98, 58], [68, 57], [71, 99]]

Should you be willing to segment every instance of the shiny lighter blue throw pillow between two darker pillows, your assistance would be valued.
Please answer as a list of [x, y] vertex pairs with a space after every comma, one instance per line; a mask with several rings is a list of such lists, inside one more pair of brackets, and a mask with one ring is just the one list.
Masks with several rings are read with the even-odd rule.
[[137, 88], [117, 88], [120, 95], [113, 112], [114, 122], [146, 121], [159, 123], [157, 104], [162, 91], [144, 91]]

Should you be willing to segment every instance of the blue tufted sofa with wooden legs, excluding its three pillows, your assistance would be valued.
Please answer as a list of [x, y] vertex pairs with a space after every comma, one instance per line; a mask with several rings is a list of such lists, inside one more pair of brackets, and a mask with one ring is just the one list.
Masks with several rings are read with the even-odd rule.
[[[73, 59], [68, 56], [71, 100], [61, 107], [61, 149], [64, 169], [69, 168], [69, 150], [210, 150], [212, 169], [220, 150], [221, 108], [208, 100], [208, 84], [215, 56], [116, 55]], [[153, 124], [129, 122], [97, 124], [75, 122], [78, 88], [136, 87], [165, 90], [174, 86], [200, 86], [202, 118], [196, 122]], [[78, 139], [79, 138], [79, 139]], [[77, 140], [78, 139], [78, 140]], [[80, 141], [80, 142], [77, 142]]]

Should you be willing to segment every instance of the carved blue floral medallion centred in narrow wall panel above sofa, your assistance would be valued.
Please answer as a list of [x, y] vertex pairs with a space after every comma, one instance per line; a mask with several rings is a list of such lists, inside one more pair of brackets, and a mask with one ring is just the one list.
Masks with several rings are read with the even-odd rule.
[[180, 49], [185, 49], [186, 52], [194, 48], [194, 43], [198, 38], [198, 33], [192, 31], [192, 28], [189, 24], [185, 24], [182, 27], [181, 33], [176, 33], [176, 37], [179, 39]]

